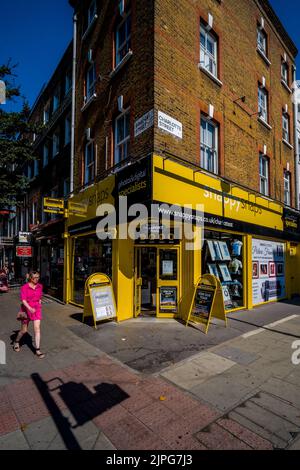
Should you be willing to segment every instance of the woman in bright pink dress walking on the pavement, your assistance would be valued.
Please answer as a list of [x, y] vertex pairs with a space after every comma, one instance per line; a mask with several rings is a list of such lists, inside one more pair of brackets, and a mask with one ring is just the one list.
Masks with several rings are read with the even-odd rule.
[[21, 287], [21, 311], [27, 315], [27, 318], [21, 320], [21, 330], [14, 342], [13, 349], [16, 352], [20, 351], [21, 338], [28, 332], [28, 325], [32, 321], [35, 337], [35, 353], [39, 359], [43, 359], [45, 354], [40, 350], [43, 286], [39, 281], [40, 273], [32, 271], [29, 274], [28, 282]]

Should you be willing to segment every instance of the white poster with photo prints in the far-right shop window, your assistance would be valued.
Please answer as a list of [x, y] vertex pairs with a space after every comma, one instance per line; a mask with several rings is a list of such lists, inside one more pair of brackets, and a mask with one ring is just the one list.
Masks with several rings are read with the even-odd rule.
[[285, 244], [253, 239], [252, 273], [253, 305], [285, 297]]

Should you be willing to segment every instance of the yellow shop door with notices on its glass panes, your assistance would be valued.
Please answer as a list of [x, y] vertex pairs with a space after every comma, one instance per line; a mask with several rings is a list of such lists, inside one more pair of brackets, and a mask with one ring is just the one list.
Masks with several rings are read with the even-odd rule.
[[179, 248], [159, 248], [157, 262], [157, 316], [174, 316], [180, 299]]

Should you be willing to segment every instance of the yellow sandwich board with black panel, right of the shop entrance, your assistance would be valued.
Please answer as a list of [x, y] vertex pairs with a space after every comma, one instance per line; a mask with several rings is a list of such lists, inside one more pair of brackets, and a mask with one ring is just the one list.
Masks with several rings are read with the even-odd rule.
[[195, 286], [186, 326], [189, 322], [199, 323], [204, 325], [205, 334], [207, 334], [213, 317], [224, 320], [225, 326], [227, 326], [223, 290], [220, 280], [211, 274], [205, 274], [199, 279]]

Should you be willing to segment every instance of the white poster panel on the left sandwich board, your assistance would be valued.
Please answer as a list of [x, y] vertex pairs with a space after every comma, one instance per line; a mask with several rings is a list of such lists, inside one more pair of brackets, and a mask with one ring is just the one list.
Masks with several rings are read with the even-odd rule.
[[108, 320], [117, 316], [111, 286], [92, 288], [90, 292], [91, 303], [97, 321]]

